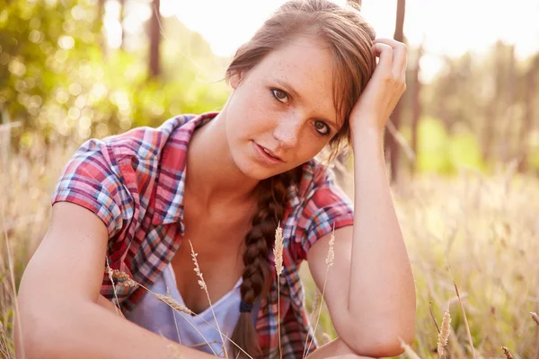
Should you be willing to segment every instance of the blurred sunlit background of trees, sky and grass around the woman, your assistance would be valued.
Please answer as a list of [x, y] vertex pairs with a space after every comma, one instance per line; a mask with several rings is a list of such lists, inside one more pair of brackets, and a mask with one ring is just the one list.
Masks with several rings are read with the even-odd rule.
[[[220, 109], [235, 48], [282, 3], [0, 0], [0, 355], [14, 357], [13, 293], [75, 149]], [[539, 358], [539, 2], [363, 0], [362, 13], [409, 48], [384, 146], [417, 283], [412, 349], [440, 356], [449, 311], [445, 357]], [[335, 168], [350, 195], [351, 161]], [[335, 337], [321, 322], [320, 340]]]

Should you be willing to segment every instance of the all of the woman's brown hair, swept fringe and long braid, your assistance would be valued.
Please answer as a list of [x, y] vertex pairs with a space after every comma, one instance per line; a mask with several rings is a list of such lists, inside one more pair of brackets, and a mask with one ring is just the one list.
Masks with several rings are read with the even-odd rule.
[[[375, 31], [361, 16], [357, 2], [340, 6], [329, 0], [292, 0], [281, 5], [252, 39], [238, 48], [225, 78], [228, 81], [234, 74], [250, 71], [271, 51], [302, 35], [319, 37], [331, 51], [333, 103], [342, 124], [330, 141], [331, 152], [336, 155], [342, 148], [342, 139], [350, 142], [350, 111], [376, 66], [372, 50]], [[241, 293], [247, 304], [252, 305], [269, 290], [273, 233], [284, 214], [287, 186], [297, 175], [295, 169], [261, 181], [259, 209], [252, 219], [252, 230], [245, 237], [243, 254], [245, 270]], [[241, 313], [232, 339], [249, 355], [261, 355], [250, 313]], [[234, 357], [237, 354], [235, 350]]]

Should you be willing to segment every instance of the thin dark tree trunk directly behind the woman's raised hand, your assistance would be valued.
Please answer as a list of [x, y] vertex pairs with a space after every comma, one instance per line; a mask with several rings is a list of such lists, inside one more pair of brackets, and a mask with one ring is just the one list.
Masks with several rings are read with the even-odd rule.
[[[404, 8], [406, 6], [405, 0], [397, 0], [397, 19], [395, 23], [395, 33], [393, 39], [404, 42]], [[402, 99], [397, 103], [397, 106], [393, 110], [393, 115], [390, 120], [393, 122], [395, 130], [398, 131], [401, 125], [401, 112], [402, 112]], [[384, 132], [384, 153], [386, 162], [390, 164], [390, 180], [395, 182], [397, 180], [398, 165], [399, 165], [399, 144], [396, 139], [387, 131]]]

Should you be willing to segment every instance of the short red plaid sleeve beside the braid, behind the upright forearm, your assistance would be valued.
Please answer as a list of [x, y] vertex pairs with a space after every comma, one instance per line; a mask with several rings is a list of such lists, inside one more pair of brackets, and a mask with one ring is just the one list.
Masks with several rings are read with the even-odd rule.
[[296, 258], [305, 260], [311, 246], [325, 234], [353, 225], [354, 207], [349, 197], [333, 180], [333, 174], [320, 169], [305, 207], [296, 218], [296, 241], [292, 244]]

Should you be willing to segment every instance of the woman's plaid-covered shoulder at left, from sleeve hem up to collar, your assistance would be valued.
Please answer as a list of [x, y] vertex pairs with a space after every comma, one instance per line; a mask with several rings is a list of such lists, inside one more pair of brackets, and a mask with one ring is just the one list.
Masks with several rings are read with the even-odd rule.
[[159, 183], [165, 144], [192, 118], [181, 115], [160, 127], [135, 127], [84, 142], [66, 163], [51, 204], [67, 201], [84, 206], [102, 219], [110, 237], [133, 216], [140, 222]]

